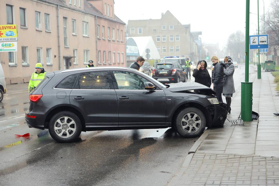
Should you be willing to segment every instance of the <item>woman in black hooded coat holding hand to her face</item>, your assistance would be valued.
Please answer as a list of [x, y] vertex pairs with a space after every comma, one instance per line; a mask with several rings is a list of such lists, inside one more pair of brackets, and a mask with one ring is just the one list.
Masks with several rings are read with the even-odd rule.
[[199, 61], [197, 68], [193, 70], [193, 77], [195, 78], [196, 83], [203, 84], [205, 86], [211, 86], [211, 77], [206, 69], [206, 61]]

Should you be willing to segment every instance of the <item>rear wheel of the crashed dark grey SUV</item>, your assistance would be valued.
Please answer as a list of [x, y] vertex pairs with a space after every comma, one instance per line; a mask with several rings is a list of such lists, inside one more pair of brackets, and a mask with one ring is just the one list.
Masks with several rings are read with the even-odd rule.
[[50, 136], [54, 140], [61, 143], [68, 143], [77, 139], [80, 136], [81, 128], [81, 121], [79, 117], [69, 111], [58, 112], [49, 122]]

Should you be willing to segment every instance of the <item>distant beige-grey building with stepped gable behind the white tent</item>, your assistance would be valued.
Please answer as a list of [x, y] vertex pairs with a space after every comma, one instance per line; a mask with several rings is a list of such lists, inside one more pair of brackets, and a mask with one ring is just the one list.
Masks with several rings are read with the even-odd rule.
[[179, 56], [198, 60], [198, 45], [190, 24], [182, 25], [170, 11], [157, 20], [129, 20], [127, 32], [129, 37], [152, 36], [161, 58]]

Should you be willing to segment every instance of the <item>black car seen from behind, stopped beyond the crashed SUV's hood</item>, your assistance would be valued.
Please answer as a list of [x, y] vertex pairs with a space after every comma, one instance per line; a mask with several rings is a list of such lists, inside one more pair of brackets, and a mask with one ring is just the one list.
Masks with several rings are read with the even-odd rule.
[[186, 82], [186, 73], [179, 62], [158, 63], [153, 69], [152, 78], [161, 83]]

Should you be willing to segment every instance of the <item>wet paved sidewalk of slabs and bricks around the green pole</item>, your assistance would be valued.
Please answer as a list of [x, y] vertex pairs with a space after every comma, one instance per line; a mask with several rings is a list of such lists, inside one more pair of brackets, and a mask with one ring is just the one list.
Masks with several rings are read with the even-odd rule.
[[[270, 72], [253, 81], [252, 110], [259, 121], [207, 129], [169, 185], [279, 185], [279, 92]], [[228, 119], [240, 116], [241, 90], [232, 98]], [[195, 145], [194, 145], [195, 146]]]

